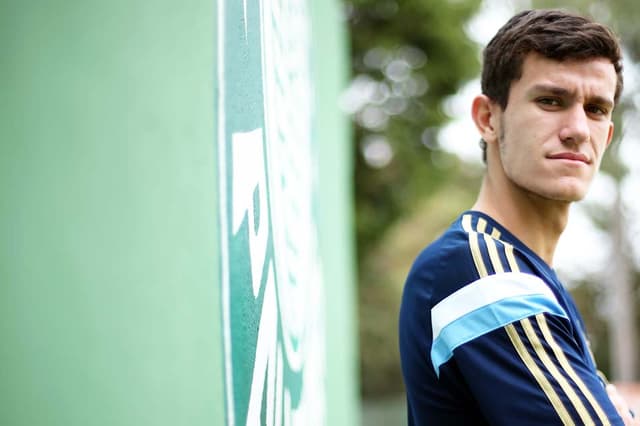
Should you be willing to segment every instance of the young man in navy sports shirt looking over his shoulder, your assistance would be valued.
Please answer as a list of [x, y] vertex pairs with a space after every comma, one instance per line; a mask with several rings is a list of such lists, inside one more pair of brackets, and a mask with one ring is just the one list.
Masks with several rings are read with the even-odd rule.
[[552, 268], [572, 202], [611, 142], [622, 90], [607, 28], [525, 11], [484, 52], [475, 205], [416, 259], [400, 312], [409, 424], [638, 425], [598, 376]]

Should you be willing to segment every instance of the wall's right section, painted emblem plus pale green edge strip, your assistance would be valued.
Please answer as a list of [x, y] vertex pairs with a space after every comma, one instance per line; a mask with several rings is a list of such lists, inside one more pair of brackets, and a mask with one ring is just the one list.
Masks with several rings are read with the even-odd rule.
[[228, 424], [358, 423], [338, 7], [218, 2]]

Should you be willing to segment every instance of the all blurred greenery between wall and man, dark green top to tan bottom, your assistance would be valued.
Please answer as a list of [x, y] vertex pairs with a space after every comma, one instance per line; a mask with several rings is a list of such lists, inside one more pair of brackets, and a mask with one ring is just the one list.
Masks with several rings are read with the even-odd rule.
[[[465, 23], [481, 0], [345, 0], [354, 121], [361, 378], [365, 396], [398, 392], [399, 299], [418, 250], [468, 206], [474, 174], [438, 147], [443, 101], [479, 71]], [[473, 143], [472, 141], [470, 143]], [[480, 150], [478, 150], [480, 156]], [[470, 189], [471, 188], [471, 189]], [[432, 210], [424, 217], [425, 209]], [[404, 221], [398, 219], [404, 218]], [[408, 241], [407, 236], [414, 238]]]

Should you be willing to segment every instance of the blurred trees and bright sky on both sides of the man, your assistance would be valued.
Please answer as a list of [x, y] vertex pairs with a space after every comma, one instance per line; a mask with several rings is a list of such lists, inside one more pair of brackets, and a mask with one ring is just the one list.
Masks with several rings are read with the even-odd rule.
[[[344, 1], [352, 75], [363, 424], [400, 424], [397, 351], [404, 279], [418, 252], [469, 208], [484, 172], [470, 102], [482, 48], [514, 13], [563, 8], [610, 25], [625, 49], [625, 90], [600, 175], [575, 205], [555, 267], [590, 332], [600, 369], [639, 377], [640, 8], [630, 0]], [[630, 385], [629, 385], [630, 386]]]

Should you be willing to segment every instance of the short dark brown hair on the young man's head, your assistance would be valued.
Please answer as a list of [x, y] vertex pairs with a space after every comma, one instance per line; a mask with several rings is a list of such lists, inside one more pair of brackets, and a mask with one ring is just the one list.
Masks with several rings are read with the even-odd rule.
[[[584, 16], [538, 9], [514, 15], [484, 49], [482, 93], [502, 109], [507, 107], [511, 83], [522, 77], [522, 64], [529, 53], [557, 61], [610, 60], [617, 75], [614, 101], [618, 103], [623, 86], [622, 54], [614, 33]], [[486, 143], [481, 141], [480, 145], [486, 158]]]

